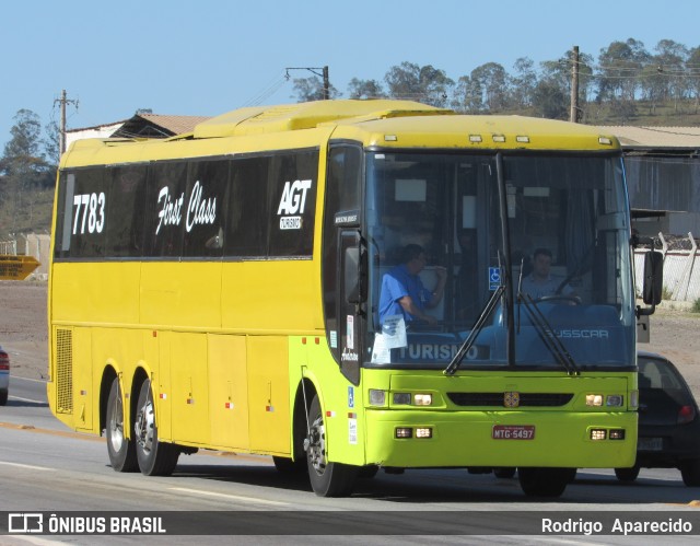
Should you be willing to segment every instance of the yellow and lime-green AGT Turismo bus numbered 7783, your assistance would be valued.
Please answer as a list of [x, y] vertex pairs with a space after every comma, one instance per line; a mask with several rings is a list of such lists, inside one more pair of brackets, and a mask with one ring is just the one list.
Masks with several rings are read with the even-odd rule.
[[517, 467], [555, 497], [573, 468], [634, 463], [627, 189], [595, 128], [242, 108], [75, 142], [54, 218], [48, 399], [117, 472], [209, 449], [319, 496], [378, 468]]

